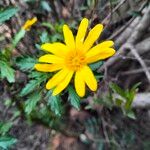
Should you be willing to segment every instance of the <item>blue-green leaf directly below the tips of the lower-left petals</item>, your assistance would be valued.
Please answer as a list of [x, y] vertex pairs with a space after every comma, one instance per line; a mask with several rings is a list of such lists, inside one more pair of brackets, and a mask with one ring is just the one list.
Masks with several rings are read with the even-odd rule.
[[47, 94], [48, 103], [51, 107], [51, 110], [58, 116], [62, 114], [62, 106], [61, 106], [61, 99], [59, 96], [52, 96], [51, 91]]

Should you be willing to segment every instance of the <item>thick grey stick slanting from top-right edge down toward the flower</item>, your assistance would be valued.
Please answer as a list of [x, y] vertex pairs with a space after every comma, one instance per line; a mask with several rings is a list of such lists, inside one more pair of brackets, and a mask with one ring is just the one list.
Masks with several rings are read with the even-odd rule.
[[118, 58], [119, 55], [125, 55], [128, 51], [126, 51], [126, 44], [135, 44], [143, 35], [143, 31], [146, 31], [148, 27], [150, 26], [150, 6], [146, 10], [144, 17], [141, 19], [140, 23], [136, 26], [135, 30], [133, 31], [130, 38], [127, 40], [125, 44], [123, 44], [116, 55], [114, 57], [111, 57], [104, 65], [98, 70], [99, 72], [103, 71], [105, 67], [113, 66], [113, 64], [120, 60]]

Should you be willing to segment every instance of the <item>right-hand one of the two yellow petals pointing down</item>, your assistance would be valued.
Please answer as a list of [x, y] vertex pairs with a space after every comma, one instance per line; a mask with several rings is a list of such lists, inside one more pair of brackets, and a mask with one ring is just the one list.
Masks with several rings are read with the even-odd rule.
[[81, 70], [82, 77], [84, 78], [87, 86], [92, 90], [97, 90], [97, 81], [94, 77], [92, 70], [88, 66], [84, 66]]

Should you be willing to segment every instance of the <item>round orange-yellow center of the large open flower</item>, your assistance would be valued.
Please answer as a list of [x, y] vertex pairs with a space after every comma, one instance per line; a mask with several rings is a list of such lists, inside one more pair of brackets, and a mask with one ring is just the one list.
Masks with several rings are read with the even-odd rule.
[[85, 64], [85, 55], [81, 52], [70, 52], [66, 57], [66, 66], [73, 71], [80, 70]]

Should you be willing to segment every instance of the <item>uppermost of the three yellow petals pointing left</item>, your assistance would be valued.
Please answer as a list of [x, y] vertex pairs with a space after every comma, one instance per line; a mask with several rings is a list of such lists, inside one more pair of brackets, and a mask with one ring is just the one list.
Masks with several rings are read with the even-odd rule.
[[69, 51], [66, 45], [59, 43], [59, 42], [45, 43], [41, 45], [41, 48], [59, 57], [65, 57], [65, 55]]

